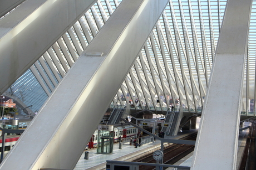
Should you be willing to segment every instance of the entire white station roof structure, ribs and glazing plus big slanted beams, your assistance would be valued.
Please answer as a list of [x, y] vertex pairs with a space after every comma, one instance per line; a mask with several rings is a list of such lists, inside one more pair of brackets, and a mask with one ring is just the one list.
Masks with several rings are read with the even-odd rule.
[[109, 105], [204, 106], [191, 167], [234, 167], [240, 111], [255, 116], [255, 1], [1, 2], [0, 93], [40, 110], [2, 168], [72, 169]]

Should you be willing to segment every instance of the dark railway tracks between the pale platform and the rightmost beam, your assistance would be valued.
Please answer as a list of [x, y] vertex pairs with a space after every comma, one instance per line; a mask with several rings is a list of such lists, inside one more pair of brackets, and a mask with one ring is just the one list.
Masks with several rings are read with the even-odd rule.
[[[197, 133], [193, 133], [189, 136], [184, 138], [180, 138], [180, 140], [196, 140]], [[164, 148], [164, 164], [174, 164], [175, 162], [179, 161], [181, 158], [185, 157], [190, 152], [194, 151], [194, 145], [185, 145], [185, 144], [173, 144], [171, 146]], [[135, 159], [132, 162], [145, 162], [145, 163], [156, 163], [155, 159], [152, 157], [151, 154], [147, 154], [139, 159]], [[154, 166], [140, 166], [140, 170], [151, 170], [155, 169]], [[166, 167], [163, 167], [166, 169]]]

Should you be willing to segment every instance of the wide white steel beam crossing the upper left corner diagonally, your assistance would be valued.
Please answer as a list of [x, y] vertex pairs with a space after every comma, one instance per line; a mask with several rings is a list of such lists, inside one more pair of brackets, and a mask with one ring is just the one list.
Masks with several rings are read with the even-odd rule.
[[0, 94], [95, 2], [28, 0], [0, 20]]

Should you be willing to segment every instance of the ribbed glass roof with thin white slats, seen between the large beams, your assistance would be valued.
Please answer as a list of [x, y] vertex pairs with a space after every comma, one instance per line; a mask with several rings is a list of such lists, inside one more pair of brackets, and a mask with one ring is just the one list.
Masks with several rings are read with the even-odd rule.
[[[1, 13], [0, 23], [17, 8], [26, 6], [26, 1], [17, 2], [12, 9]], [[25, 104], [33, 105], [33, 111], [40, 110], [120, 3], [121, 0], [95, 1], [72, 27], [9, 86], [7, 92], [13, 92]], [[150, 110], [166, 111], [173, 103], [174, 107], [178, 107], [175, 104], [179, 103], [185, 109], [195, 112], [200, 110], [208, 88], [226, 3], [225, 0], [170, 1], [137, 54], [111, 105], [125, 106], [138, 101], [134, 109], [139, 109], [140, 105]], [[255, 3], [253, 1], [250, 17], [241, 101], [243, 110], [253, 112], [256, 94]], [[98, 100], [99, 104], [101, 100], [104, 100], [104, 96]], [[249, 102], [252, 105], [249, 106]]]

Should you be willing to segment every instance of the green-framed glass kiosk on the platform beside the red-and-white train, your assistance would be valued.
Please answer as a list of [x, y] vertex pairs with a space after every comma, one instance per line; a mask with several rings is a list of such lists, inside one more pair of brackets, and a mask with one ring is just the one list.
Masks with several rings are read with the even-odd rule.
[[113, 152], [114, 133], [113, 125], [98, 126], [97, 153], [109, 154]]

